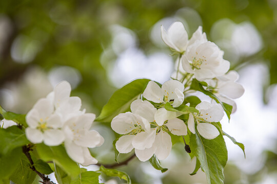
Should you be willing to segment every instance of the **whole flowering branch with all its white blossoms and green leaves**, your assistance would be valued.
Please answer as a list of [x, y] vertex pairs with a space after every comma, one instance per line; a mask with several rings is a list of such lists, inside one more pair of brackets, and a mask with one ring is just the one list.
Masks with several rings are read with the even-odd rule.
[[[8, 173], [4, 175], [0, 170], [0, 183], [4, 182], [3, 177], [5, 181], [20, 184], [21, 177], [16, 175], [22, 172], [31, 175], [34, 171], [43, 179], [42, 183], [52, 183], [44, 175], [52, 172], [61, 183], [86, 184], [92, 183], [91, 180], [99, 183], [102, 172], [125, 179], [129, 184], [128, 174], [114, 167], [126, 165], [136, 156], [165, 172], [167, 169], [161, 166], [160, 160], [169, 156], [173, 144], [183, 141], [190, 157], [196, 157], [191, 175], [201, 168], [208, 183], [223, 183], [228, 159], [223, 136], [229, 137], [244, 152], [244, 145], [225, 133], [220, 123], [224, 114], [230, 120], [230, 114], [236, 110], [233, 99], [244, 93], [243, 86], [236, 82], [239, 74], [229, 71], [230, 62], [223, 58], [224, 52], [207, 40], [202, 27], [189, 39], [184, 25], [177, 21], [168, 30], [162, 26], [161, 35], [173, 55], [177, 55], [171, 79], [163, 84], [149, 79], [131, 81], [115, 91], [97, 118], [81, 110], [79, 97], [70, 97], [71, 86], [67, 81], [57, 84], [47, 97], [39, 99], [26, 116], [6, 112], [0, 106], [0, 136], [5, 138], [0, 139], [0, 162], [11, 155], [17, 156], [20, 159], [15, 160], [16, 164], [24, 163], [22, 168], [27, 168], [15, 170], [0, 163], [7, 167]], [[210, 102], [201, 100], [195, 91], [208, 96]], [[94, 120], [109, 122], [114, 130], [115, 161], [119, 153], [133, 152], [133, 155], [122, 163], [97, 164], [89, 148], [101, 146], [104, 138], [90, 130]], [[18, 152], [20, 147], [24, 155]], [[36, 154], [29, 153], [34, 150]], [[49, 163], [53, 165], [50, 167]], [[100, 169], [86, 171], [76, 163], [97, 164]], [[31, 183], [35, 176], [24, 179]]]

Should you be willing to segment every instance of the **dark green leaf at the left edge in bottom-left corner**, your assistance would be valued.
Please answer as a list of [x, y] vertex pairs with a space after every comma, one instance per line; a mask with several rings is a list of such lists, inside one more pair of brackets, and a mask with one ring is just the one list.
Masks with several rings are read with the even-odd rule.
[[[24, 155], [22, 148], [15, 148], [7, 155], [0, 156], [0, 178], [9, 178], [19, 166], [21, 156]], [[24, 155], [25, 156], [25, 155]]]

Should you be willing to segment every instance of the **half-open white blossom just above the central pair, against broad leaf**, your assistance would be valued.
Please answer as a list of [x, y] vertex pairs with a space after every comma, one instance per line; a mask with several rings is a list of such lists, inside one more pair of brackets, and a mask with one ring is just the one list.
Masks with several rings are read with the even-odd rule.
[[143, 96], [149, 101], [155, 103], [167, 103], [173, 101], [173, 107], [180, 106], [184, 101], [184, 84], [177, 80], [166, 81], [162, 87], [154, 81], [149, 81]]

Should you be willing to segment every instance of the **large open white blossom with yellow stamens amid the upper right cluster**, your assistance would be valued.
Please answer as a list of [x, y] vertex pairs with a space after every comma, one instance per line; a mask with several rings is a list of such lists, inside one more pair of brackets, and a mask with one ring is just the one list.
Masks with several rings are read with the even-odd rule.
[[182, 65], [199, 81], [212, 79], [224, 75], [230, 68], [230, 62], [223, 59], [223, 54], [215, 43], [196, 40], [182, 56]]

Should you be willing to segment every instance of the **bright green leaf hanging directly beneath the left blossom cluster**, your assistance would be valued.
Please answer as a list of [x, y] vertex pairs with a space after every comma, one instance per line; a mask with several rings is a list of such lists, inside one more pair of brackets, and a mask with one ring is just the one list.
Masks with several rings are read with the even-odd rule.
[[62, 145], [49, 147], [45, 144], [37, 144], [36, 150], [41, 159], [45, 162], [55, 162], [68, 175], [76, 177], [80, 173], [78, 165], [67, 155]]

